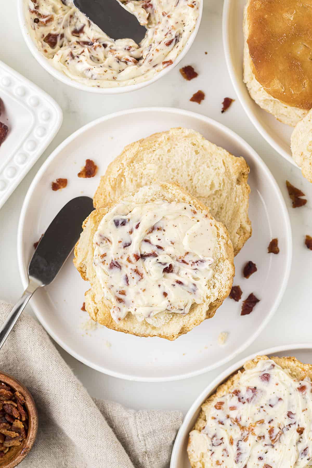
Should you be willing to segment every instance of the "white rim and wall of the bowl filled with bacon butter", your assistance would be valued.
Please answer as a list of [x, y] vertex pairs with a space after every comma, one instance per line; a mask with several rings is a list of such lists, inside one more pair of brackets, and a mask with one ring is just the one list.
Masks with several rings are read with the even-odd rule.
[[196, 34], [198, 32], [199, 25], [200, 25], [200, 22], [202, 20], [202, 15], [203, 15], [203, 0], [201, 0], [200, 7], [199, 7], [199, 16], [196, 21], [195, 29], [190, 35], [189, 40], [185, 44], [184, 49], [181, 51], [178, 57], [174, 60], [174, 63], [171, 66], [167, 66], [166, 68], [164, 68], [161, 72], [157, 73], [151, 80], [146, 80], [136, 85], [121, 86], [119, 88], [97, 88], [97, 87], [86, 86], [84, 84], [78, 83], [77, 81], [72, 80], [71, 78], [66, 76], [65, 73], [58, 71], [54, 66], [51, 65], [49, 59], [44, 57], [44, 55], [37, 49], [36, 44], [30, 37], [29, 31], [26, 25], [25, 14], [24, 14], [24, 1], [25, 0], [17, 0], [18, 20], [20, 23], [20, 28], [22, 30], [22, 35], [25, 39], [25, 42], [28, 45], [28, 48], [30, 52], [33, 54], [33, 56], [35, 57], [35, 59], [39, 62], [41, 66], [44, 67], [44, 69], [47, 72], [49, 72], [52, 76], [54, 76], [54, 78], [57, 78], [58, 80], [62, 81], [62, 83], [72, 86], [73, 88], [80, 89], [81, 91], [89, 91], [90, 93], [96, 93], [96, 94], [122, 94], [122, 93], [128, 93], [130, 91], [136, 91], [137, 89], [144, 88], [145, 86], [154, 83], [155, 81], [159, 80], [162, 76], [166, 75], [170, 70], [172, 70], [175, 66], [177, 66], [180, 63], [180, 61], [189, 51], [191, 45], [194, 42]]

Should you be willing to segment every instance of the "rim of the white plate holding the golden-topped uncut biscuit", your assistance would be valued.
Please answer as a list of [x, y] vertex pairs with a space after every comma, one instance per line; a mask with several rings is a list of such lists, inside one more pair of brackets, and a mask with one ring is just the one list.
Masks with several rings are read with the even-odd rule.
[[[222, 38], [223, 38], [223, 49], [225, 53], [225, 61], [226, 61], [226, 66], [227, 70], [229, 72], [232, 85], [234, 87], [234, 90], [236, 94], [239, 97], [239, 102], [241, 103], [243, 109], [245, 110], [247, 116], [249, 117], [250, 121], [252, 124], [254, 124], [254, 127], [258, 130], [258, 132], [262, 135], [262, 137], [268, 142], [270, 146], [272, 146], [273, 149], [277, 151], [283, 158], [285, 158], [288, 162], [290, 162], [293, 166], [298, 168], [298, 165], [296, 162], [292, 159], [291, 155], [285, 151], [282, 146], [280, 146], [274, 138], [272, 138], [268, 132], [264, 129], [262, 124], [259, 122], [258, 118], [254, 114], [254, 110], [252, 108], [252, 105], [254, 101], [252, 98], [249, 96], [248, 93], [248, 98], [245, 98], [244, 93], [242, 92], [242, 86], [246, 87], [245, 83], [242, 82], [241, 80], [238, 79], [237, 77], [237, 72], [235, 71], [237, 67], [235, 67], [235, 64], [232, 61], [232, 54], [230, 50], [230, 40], [229, 40], [229, 24], [232, 22], [232, 18], [230, 15], [231, 12], [231, 5], [232, 5], [233, 0], [224, 0], [224, 5], [223, 5], [223, 16], [222, 16]], [[242, 23], [243, 24], [243, 23]], [[241, 66], [243, 66], [241, 64]]]

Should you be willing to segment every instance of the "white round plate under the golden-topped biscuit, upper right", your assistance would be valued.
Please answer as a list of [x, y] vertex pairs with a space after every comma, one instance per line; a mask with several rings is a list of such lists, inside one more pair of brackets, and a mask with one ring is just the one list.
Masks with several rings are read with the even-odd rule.
[[224, 1], [222, 32], [227, 68], [239, 101], [258, 132], [283, 158], [297, 167], [290, 150], [290, 135], [293, 128], [282, 124], [261, 109], [250, 97], [243, 82], [243, 12], [246, 1]]

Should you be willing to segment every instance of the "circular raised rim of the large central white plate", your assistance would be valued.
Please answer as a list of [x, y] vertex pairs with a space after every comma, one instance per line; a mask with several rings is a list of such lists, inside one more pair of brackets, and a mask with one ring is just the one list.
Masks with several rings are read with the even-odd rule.
[[276, 180], [272, 176], [272, 174], [271, 174], [270, 170], [268, 169], [267, 165], [262, 161], [261, 157], [254, 151], [254, 149], [250, 145], [248, 145], [248, 143], [244, 139], [239, 137], [239, 135], [237, 135], [235, 132], [233, 132], [229, 128], [225, 127], [225, 125], [220, 124], [216, 120], [211, 119], [210, 117], [205, 117], [205, 116], [203, 116], [201, 114], [197, 114], [196, 112], [190, 112], [188, 110], [175, 109], [175, 108], [171, 108], [171, 107], [144, 107], [144, 108], [128, 109], [128, 110], [122, 110], [122, 111], [114, 112], [114, 113], [109, 114], [107, 116], [100, 117], [100, 118], [90, 122], [89, 124], [84, 125], [79, 130], [74, 132], [72, 135], [67, 137], [50, 154], [50, 156], [46, 159], [46, 161], [44, 161], [44, 164], [38, 170], [36, 176], [34, 177], [32, 183], [29, 186], [29, 189], [28, 189], [27, 194], [26, 194], [25, 199], [24, 199], [24, 203], [22, 205], [22, 210], [21, 210], [20, 219], [19, 219], [19, 223], [18, 223], [17, 260], [18, 260], [18, 266], [19, 266], [19, 271], [20, 271], [23, 287], [26, 288], [27, 285], [28, 285], [27, 272], [26, 272], [26, 269], [24, 268], [24, 264], [23, 264], [23, 249], [22, 249], [22, 245], [23, 245], [22, 231], [23, 231], [23, 226], [24, 226], [24, 222], [25, 222], [25, 216], [26, 216], [26, 212], [27, 212], [27, 209], [28, 209], [29, 200], [32, 197], [33, 192], [36, 190], [37, 181], [44, 174], [46, 168], [50, 165], [51, 161], [58, 155], [58, 153], [60, 151], [62, 151], [65, 148], [65, 146], [67, 146], [69, 143], [71, 143], [76, 137], [78, 137], [82, 133], [86, 132], [89, 128], [93, 127], [94, 125], [99, 124], [100, 122], [105, 122], [105, 121], [107, 121], [107, 120], [109, 120], [111, 118], [124, 116], [124, 115], [127, 115], [127, 114], [135, 114], [135, 113], [138, 113], [138, 112], [154, 112], [154, 111], [176, 113], [176, 114], [191, 116], [191, 117], [200, 119], [203, 122], [218, 128], [222, 132], [227, 133], [228, 135], [231, 136], [232, 139], [236, 140], [238, 143], [240, 143], [241, 145], [244, 145], [246, 147], [248, 153], [251, 154], [252, 157], [261, 166], [261, 168], [264, 170], [264, 172], [266, 173], [268, 179], [270, 180], [271, 184], [273, 185], [273, 187], [276, 190], [276, 196], [279, 198], [279, 201], [280, 201], [280, 203], [281, 203], [281, 205], [283, 207], [282, 208], [282, 210], [283, 210], [282, 215], [283, 215], [283, 217], [285, 219], [285, 222], [286, 222], [286, 231], [287, 231], [286, 232], [286, 238], [287, 238], [287, 245], [289, 246], [289, 248], [288, 248], [286, 269], [285, 269], [285, 272], [284, 272], [283, 284], [282, 284], [282, 286], [280, 288], [280, 291], [279, 291], [279, 293], [277, 294], [277, 296], [275, 298], [275, 301], [274, 301], [274, 303], [273, 303], [273, 305], [271, 307], [270, 313], [265, 318], [265, 320], [261, 323], [261, 326], [250, 336], [250, 338], [246, 341], [246, 343], [242, 344], [234, 353], [231, 353], [229, 356], [227, 356], [224, 359], [221, 359], [220, 361], [218, 361], [215, 364], [203, 367], [202, 369], [199, 369], [199, 370], [196, 370], [196, 371], [193, 371], [193, 372], [174, 375], [172, 377], [149, 377], [149, 378], [146, 378], [144, 376], [135, 376], [135, 377], [133, 377], [132, 375], [119, 373], [119, 372], [114, 372], [114, 371], [112, 371], [110, 369], [105, 368], [104, 366], [97, 366], [97, 365], [93, 364], [88, 359], [81, 356], [79, 353], [73, 351], [69, 346], [67, 346], [67, 344], [64, 341], [60, 340], [58, 338], [57, 334], [55, 334], [54, 331], [51, 330], [51, 328], [49, 327], [47, 322], [41, 316], [40, 311], [37, 310], [36, 306], [34, 304], [31, 305], [31, 307], [33, 308], [33, 310], [34, 310], [34, 312], [36, 314], [37, 319], [43, 325], [44, 329], [49, 333], [49, 335], [54, 339], [54, 341], [56, 341], [56, 343], [58, 343], [59, 346], [61, 346], [71, 356], [78, 359], [80, 362], [86, 364], [87, 366], [89, 366], [89, 367], [91, 367], [91, 368], [93, 368], [93, 369], [95, 369], [95, 370], [97, 370], [99, 372], [111, 375], [112, 377], [117, 377], [117, 378], [121, 378], [121, 379], [125, 379], [125, 380], [136, 380], [136, 381], [141, 381], [141, 382], [161, 382], [161, 381], [164, 382], [164, 381], [181, 380], [181, 379], [187, 379], [187, 378], [190, 378], [190, 377], [194, 377], [196, 375], [200, 375], [202, 373], [208, 372], [210, 370], [216, 369], [217, 367], [220, 367], [220, 366], [226, 364], [227, 362], [229, 362], [230, 360], [235, 358], [239, 353], [244, 351], [251, 343], [253, 343], [253, 341], [256, 339], [256, 337], [259, 336], [261, 331], [264, 329], [264, 327], [267, 325], [267, 323], [271, 320], [274, 313], [276, 312], [276, 309], [279, 306], [279, 304], [280, 304], [280, 302], [281, 302], [281, 300], [283, 298], [283, 294], [285, 292], [285, 289], [286, 289], [286, 286], [287, 286], [287, 283], [288, 283], [288, 279], [289, 279], [289, 276], [290, 276], [291, 260], [292, 260], [292, 235], [291, 235], [290, 219], [289, 219], [289, 214], [288, 214], [288, 211], [287, 211], [284, 199], [283, 199], [282, 192], [279, 189], [279, 187], [278, 187], [278, 185], [276, 183]]

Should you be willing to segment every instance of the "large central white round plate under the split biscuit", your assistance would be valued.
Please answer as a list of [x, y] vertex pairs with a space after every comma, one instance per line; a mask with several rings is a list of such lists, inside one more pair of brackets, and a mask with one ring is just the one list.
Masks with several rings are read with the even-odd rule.
[[[45, 161], [29, 188], [19, 223], [18, 259], [23, 285], [27, 285], [26, 269], [34, 252], [33, 243], [61, 207], [80, 194], [92, 197], [100, 176], [124, 146], [176, 126], [201, 132], [232, 154], [244, 156], [250, 166], [253, 235], [235, 259], [234, 285], [240, 285], [243, 299], [254, 292], [261, 301], [252, 314], [241, 317], [241, 302], [226, 299], [213, 319], [174, 342], [132, 336], [102, 326], [86, 332], [81, 323], [88, 315], [80, 308], [89, 284], [80, 278], [69, 258], [55, 281], [36, 292], [31, 305], [44, 328], [67, 352], [87, 366], [123, 379], [176, 380], [228, 362], [247, 348], [268, 323], [289, 277], [290, 221], [281, 192], [261, 158], [239, 136], [207, 117], [185, 110], [145, 108], [95, 120], [67, 138]], [[86, 158], [99, 166], [98, 174], [91, 179], [77, 177]], [[68, 185], [53, 192], [51, 182], [58, 177], [66, 177]], [[272, 237], [278, 237], [278, 255], [267, 253]], [[256, 263], [258, 271], [244, 279], [242, 267], [249, 260]], [[224, 346], [219, 346], [222, 331], [229, 332], [229, 337]]]

